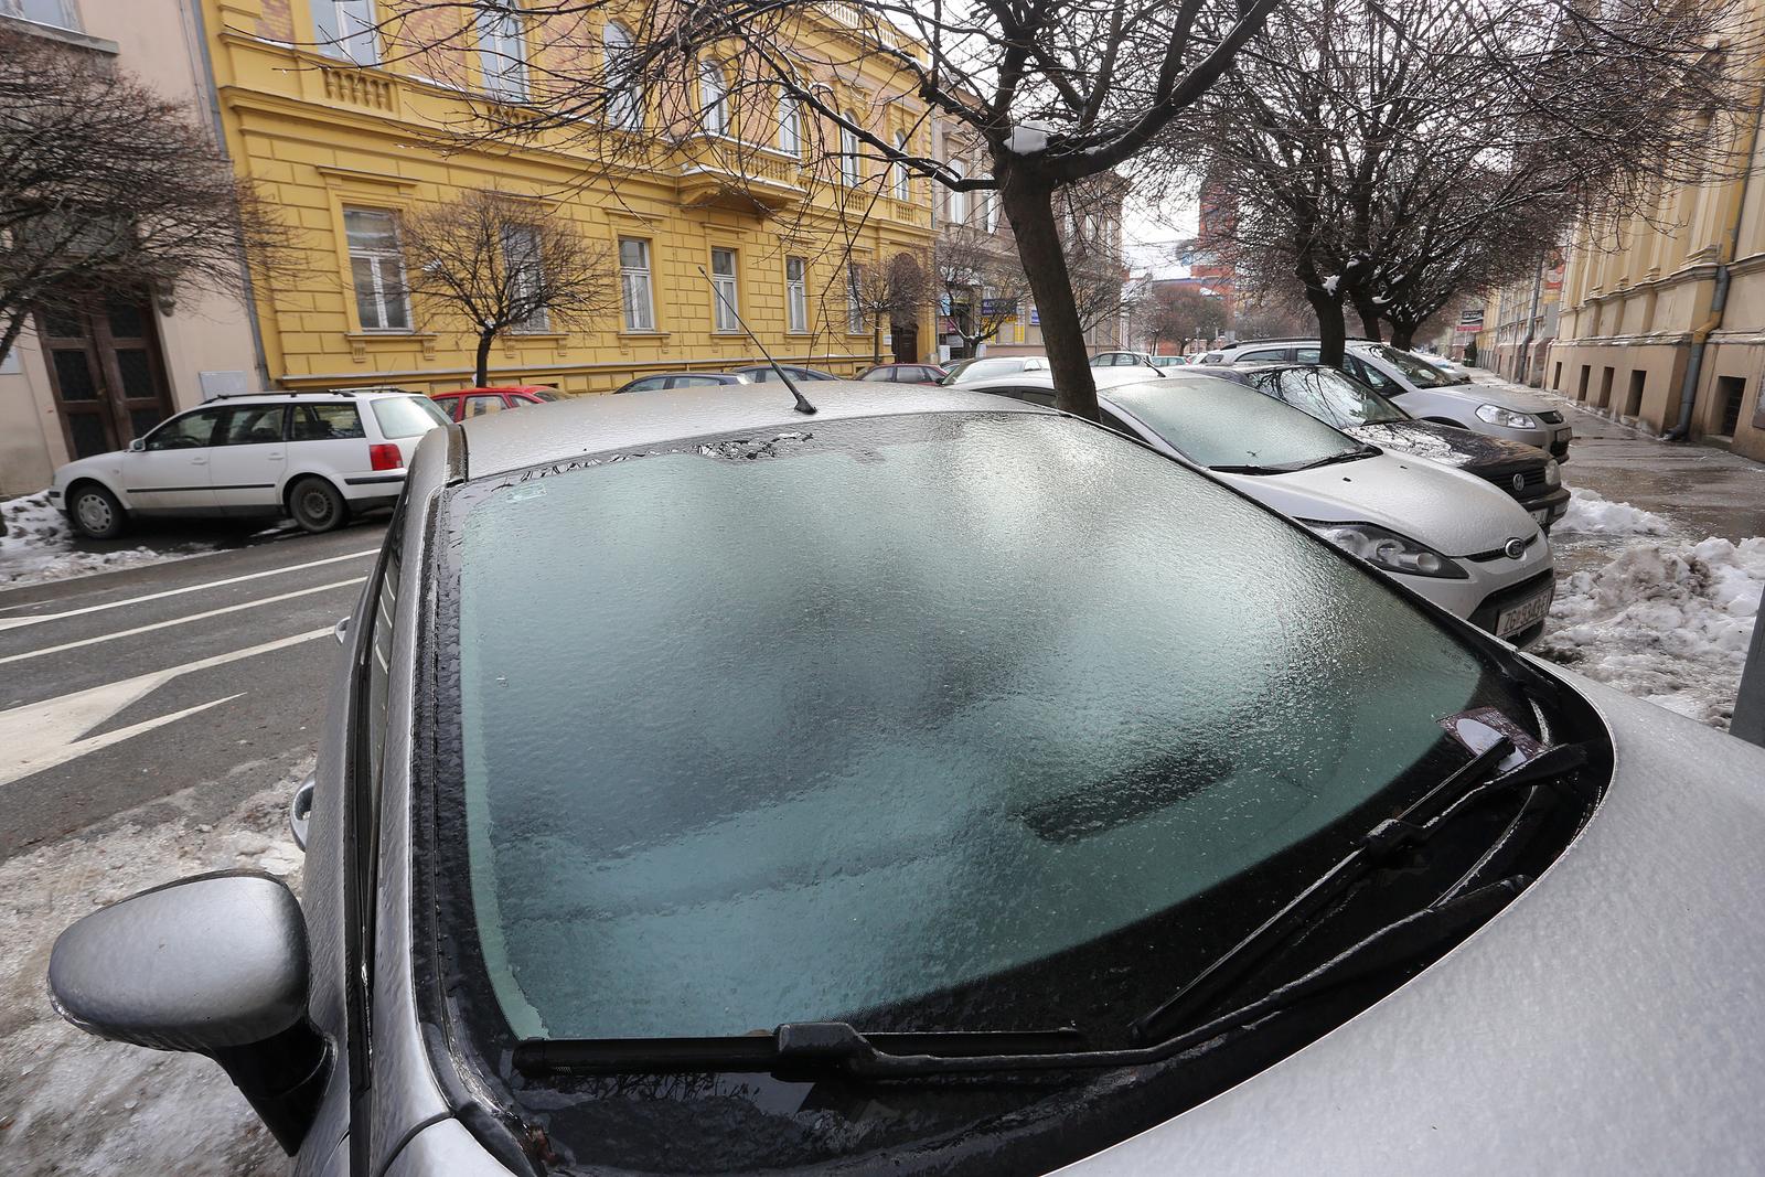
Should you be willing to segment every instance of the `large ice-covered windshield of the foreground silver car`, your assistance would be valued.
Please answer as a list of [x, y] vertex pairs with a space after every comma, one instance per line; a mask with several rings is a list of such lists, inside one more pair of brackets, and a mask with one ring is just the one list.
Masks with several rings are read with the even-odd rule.
[[1483, 681], [1310, 535], [1071, 418], [807, 422], [454, 510], [439, 873], [521, 1038], [1119, 1023], [1170, 976], [1075, 949], [1364, 829]]

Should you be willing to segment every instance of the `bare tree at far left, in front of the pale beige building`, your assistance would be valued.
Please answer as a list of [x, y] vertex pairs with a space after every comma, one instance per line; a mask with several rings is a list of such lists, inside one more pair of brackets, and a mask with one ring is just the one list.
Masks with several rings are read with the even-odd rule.
[[244, 296], [289, 233], [194, 113], [111, 62], [0, 26], [0, 360], [34, 309], [120, 291]]

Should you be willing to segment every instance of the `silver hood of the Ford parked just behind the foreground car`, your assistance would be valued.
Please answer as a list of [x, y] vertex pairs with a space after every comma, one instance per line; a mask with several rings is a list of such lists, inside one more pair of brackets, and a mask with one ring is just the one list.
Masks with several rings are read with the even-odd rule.
[[1447, 556], [1500, 549], [1530, 538], [1537, 524], [1483, 478], [1380, 454], [1287, 475], [1218, 475], [1294, 519], [1375, 522]]

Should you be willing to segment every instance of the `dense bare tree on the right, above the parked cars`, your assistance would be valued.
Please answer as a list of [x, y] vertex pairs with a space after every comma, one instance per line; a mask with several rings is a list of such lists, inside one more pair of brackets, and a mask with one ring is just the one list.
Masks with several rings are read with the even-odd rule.
[[1749, 28], [1730, 0], [1292, 0], [1181, 150], [1239, 263], [1297, 279], [1340, 362], [1345, 307], [1414, 332], [1580, 210], [1707, 168]]

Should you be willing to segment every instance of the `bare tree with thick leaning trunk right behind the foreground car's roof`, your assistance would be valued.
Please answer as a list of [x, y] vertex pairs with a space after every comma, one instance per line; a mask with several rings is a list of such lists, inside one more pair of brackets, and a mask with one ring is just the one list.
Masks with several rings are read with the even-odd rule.
[[[725, 131], [800, 118], [801, 157], [863, 161], [844, 185], [851, 208], [874, 199], [870, 175], [895, 169], [953, 191], [995, 189], [1036, 295], [1059, 404], [1094, 418], [1096, 386], [1054, 196], [1135, 161], [1280, 4], [530, 0], [522, 12], [544, 30], [545, 48], [530, 71], [531, 102], [512, 113], [507, 102], [485, 102], [484, 125], [469, 132], [577, 136], [627, 159], [651, 157], [658, 141], [681, 143], [722, 161], [725, 173], [757, 176], [764, 189], [773, 184], [764, 152], [743, 145], [778, 136]], [[395, 56], [418, 56], [427, 76], [443, 76], [448, 55], [478, 44], [464, 19], [469, 11], [409, 0], [383, 30]], [[877, 62], [897, 83], [888, 94], [852, 97], [860, 65]], [[905, 106], [914, 122], [900, 132], [891, 120]], [[920, 131], [934, 115], [983, 145], [973, 175], [932, 155]], [[768, 199], [762, 191], [755, 198]]]

